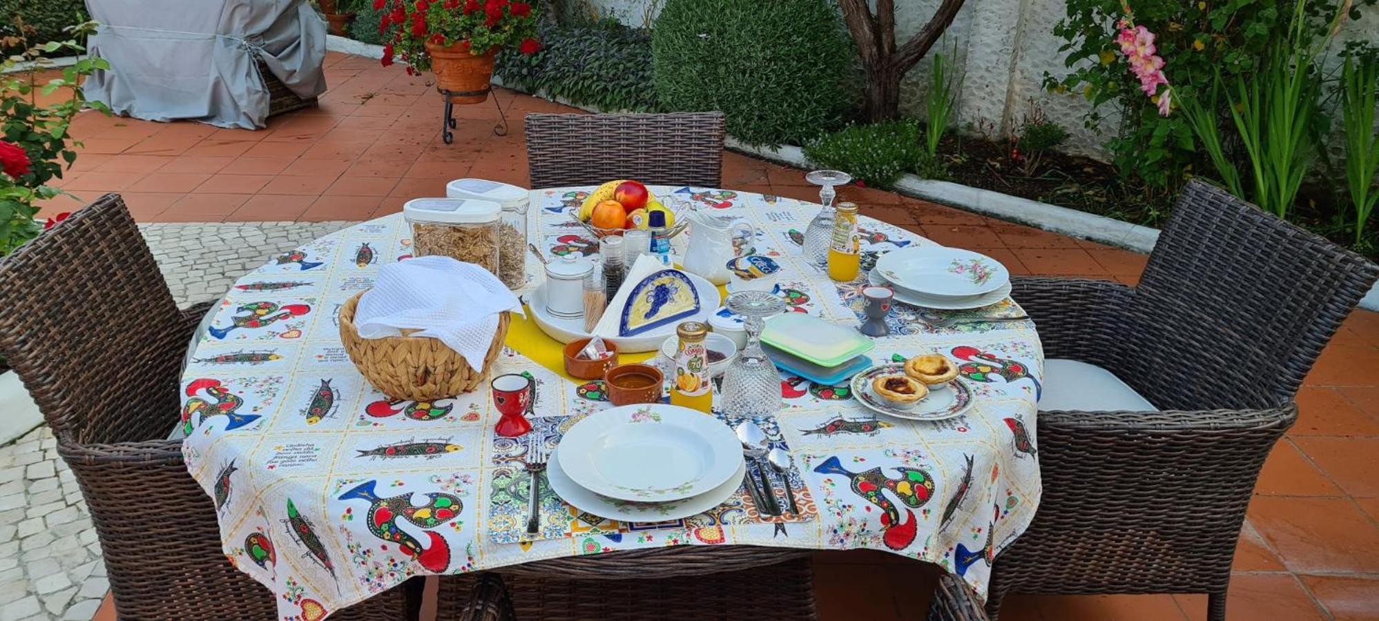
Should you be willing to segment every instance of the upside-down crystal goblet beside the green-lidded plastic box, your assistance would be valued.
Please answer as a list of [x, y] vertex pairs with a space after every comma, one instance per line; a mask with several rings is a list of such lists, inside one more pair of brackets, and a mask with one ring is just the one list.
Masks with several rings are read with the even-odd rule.
[[785, 300], [764, 291], [739, 291], [728, 295], [725, 306], [728, 311], [742, 315], [747, 346], [723, 373], [718, 403], [724, 412], [735, 416], [774, 414], [783, 408], [781, 373], [761, 350], [761, 330], [767, 317], [785, 311]]

